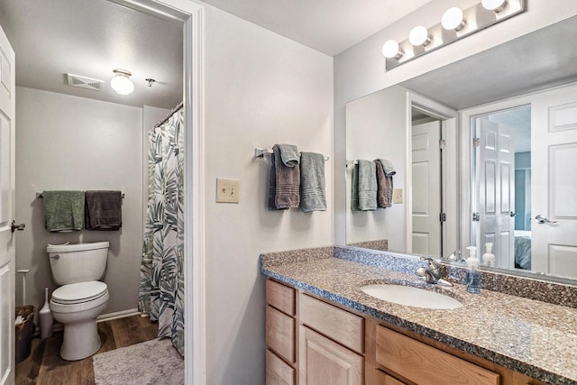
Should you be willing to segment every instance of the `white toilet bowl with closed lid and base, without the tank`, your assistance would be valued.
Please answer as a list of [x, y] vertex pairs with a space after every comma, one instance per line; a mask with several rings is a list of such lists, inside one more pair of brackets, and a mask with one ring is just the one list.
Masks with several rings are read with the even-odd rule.
[[64, 325], [62, 359], [82, 360], [100, 349], [96, 316], [105, 310], [109, 297], [106, 284], [100, 281], [72, 283], [54, 290], [50, 311]]

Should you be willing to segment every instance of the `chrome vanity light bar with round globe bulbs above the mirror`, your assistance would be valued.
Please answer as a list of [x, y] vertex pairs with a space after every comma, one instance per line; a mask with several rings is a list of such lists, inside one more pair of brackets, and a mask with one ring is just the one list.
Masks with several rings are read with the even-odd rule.
[[450, 7], [442, 15], [441, 23], [418, 25], [404, 41], [386, 41], [382, 46], [385, 68], [393, 69], [525, 11], [527, 0], [477, 0], [477, 4], [466, 9]]

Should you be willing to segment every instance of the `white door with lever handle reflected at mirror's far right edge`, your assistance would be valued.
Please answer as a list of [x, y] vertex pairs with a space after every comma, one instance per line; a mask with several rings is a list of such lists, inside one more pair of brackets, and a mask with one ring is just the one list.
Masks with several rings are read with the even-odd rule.
[[577, 87], [536, 96], [531, 149], [531, 270], [577, 277]]

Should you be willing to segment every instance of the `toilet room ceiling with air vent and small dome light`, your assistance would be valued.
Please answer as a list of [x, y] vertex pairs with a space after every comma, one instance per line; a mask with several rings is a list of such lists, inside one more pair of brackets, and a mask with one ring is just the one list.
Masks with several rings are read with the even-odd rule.
[[[123, 105], [173, 108], [182, 100], [182, 24], [106, 0], [2, 0], [0, 25], [16, 53], [16, 86]], [[113, 69], [132, 72], [133, 94], [110, 87]], [[104, 80], [68, 85], [65, 74]], [[148, 87], [145, 78], [156, 82]]]

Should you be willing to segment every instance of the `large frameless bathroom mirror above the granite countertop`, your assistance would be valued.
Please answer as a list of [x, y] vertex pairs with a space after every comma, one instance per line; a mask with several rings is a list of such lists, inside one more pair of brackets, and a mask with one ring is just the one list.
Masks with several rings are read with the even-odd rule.
[[[572, 137], [577, 104], [571, 96], [577, 91], [566, 91], [569, 96], [560, 103], [553, 100], [577, 81], [577, 48], [571, 41], [576, 33], [573, 16], [348, 103], [346, 243], [443, 258], [471, 244], [481, 257], [485, 244], [493, 243], [497, 268], [577, 279], [577, 245], [556, 235], [574, 231], [577, 222], [571, 195], [577, 193], [577, 179], [560, 166], [577, 158], [571, 144], [559, 144], [563, 151], [535, 148], [544, 137], [532, 133], [532, 127], [546, 127], [556, 118], [557, 128], [549, 126], [549, 132], [577, 140]], [[542, 121], [532, 122], [536, 119]], [[489, 133], [491, 127], [504, 128]], [[511, 139], [498, 151], [509, 152], [510, 159], [487, 158], [481, 148], [497, 143], [486, 143], [487, 138], [500, 138], [501, 144]], [[378, 158], [394, 164], [398, 190], [392, 198], [402, 203], [352, 210], [356, 160]], [[552, 190], [545, 181], [555, 178], [563, 179], [563, 186]], [[539, 206], [544, 199], [546, 207]], [[486, 215], [491, 209], [502, 215]], [[517, 259], [516, 243], [525, 250]]]

